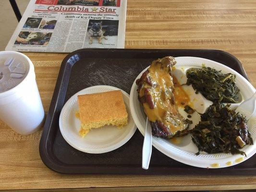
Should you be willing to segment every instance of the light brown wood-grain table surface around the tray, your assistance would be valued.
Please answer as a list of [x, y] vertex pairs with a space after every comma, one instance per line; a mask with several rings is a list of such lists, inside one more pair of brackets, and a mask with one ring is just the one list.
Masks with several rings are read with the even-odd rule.
[[[128, 0], [126, 19], [125, 48], [221, 49], [243, 63], [256, 87], [255, 0]], [[25, 54], [35, 65], [37, 84], [47, 113], [60, 64], [66, 54]], [[0, 121], [0, 190], [256, 189], [256, 177], [250, 176], [61, 175], [47, 168], [40, 159], [41, 133], [42, 130], [19, 135]]]

